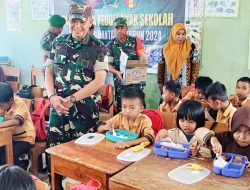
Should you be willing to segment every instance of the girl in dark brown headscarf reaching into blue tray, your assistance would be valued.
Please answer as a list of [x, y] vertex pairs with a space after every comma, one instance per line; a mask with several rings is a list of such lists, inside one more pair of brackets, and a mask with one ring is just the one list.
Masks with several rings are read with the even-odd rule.
[[250, 160], [250, 107], [239, 108], [233, 115], [232, 131], [214, 134], [209, 129], [195, 131], [197, 139], [202, 140], [218, 156], [229, 152], [247, 156]]

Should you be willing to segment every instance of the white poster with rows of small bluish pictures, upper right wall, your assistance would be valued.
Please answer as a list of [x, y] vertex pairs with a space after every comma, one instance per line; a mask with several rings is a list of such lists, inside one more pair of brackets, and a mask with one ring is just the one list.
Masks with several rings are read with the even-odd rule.
[[206, 17], [237, 17], [239, 0], [206, 0]]

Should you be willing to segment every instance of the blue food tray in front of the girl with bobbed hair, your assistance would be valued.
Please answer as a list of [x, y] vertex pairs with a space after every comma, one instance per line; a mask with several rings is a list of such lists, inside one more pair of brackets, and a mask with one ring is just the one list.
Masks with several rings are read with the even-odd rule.
[[165, 156], [170, 158], [181, 158], [185, 159], [190, 154], [190, 146], [189, 144], [179, 143], [182, 144], [185, 149], [179, 149], [179, 148], [173, 148], [173, 147], [167, 147], [161, 145], [161, 142], [158, 141], [154, 144], [154, 153], [159, 156]]

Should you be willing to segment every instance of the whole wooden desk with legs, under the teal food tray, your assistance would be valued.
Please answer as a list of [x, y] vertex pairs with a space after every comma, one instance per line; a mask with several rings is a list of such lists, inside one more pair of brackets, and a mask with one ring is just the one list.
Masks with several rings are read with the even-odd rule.
[[60, 175], [84, 183], [94, 178], [101, 182], [101, 189], [108, 189], [109, 178], [132, 163], [116, 159], [122, 151], [106, 139], [94, 146], [71, 141], [47, 149], [51, 155], [52, 190], [59, 189]]

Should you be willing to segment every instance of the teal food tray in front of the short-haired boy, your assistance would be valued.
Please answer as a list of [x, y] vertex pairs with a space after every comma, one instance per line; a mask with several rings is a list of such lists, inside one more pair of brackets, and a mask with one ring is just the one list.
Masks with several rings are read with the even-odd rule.
[[118, 142], [118, 141], [132, 141], [139, 137], [137, 133], [134, 133], [132, 131], [127, 131], [124, 129], [115, 129], [116, 136], [113, 135], [112, 131], [106, 132], [106, 139]]

